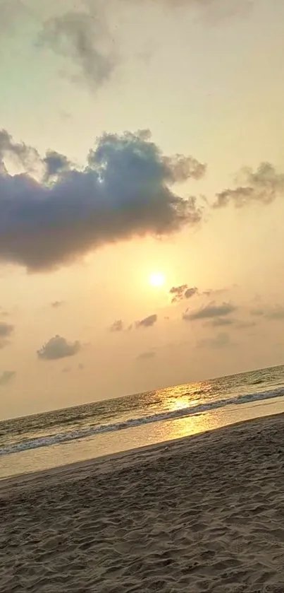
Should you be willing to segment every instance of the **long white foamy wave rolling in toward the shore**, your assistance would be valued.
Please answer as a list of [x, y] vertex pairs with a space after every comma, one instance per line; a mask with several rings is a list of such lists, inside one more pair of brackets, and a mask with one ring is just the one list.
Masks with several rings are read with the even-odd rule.
[[210, 401], [206, 404], [198, 404], [196, 406], [190, 406], [178, 410], [164, 411], [163, 413], [156, 413], [149, 416], [142, 416], [141, 418], [130, 418], [124, 422], [117, 422], [113, 424], [102, 424], [88, 428], [82, 428], [80, 430], [73, 430], [66, 433], [58, 433], [53, 435], [47, 435], [44, 437], [33, 438], [25, 440], [23, 442], [15, 443], [8, 447], [0, 448], [0, 455], [8, 455], [17, 453], [20, 451], [27, 451], [31, 449], [37, 449], [39, 447], [50, 447], [51, 445], [59, 445], [61, 443], [67, 443], [69, 441], [78, 440], [82, 438], [92, 437], [95, 435], [101, 435], [104, 433], [113, 433], [116, 430], [124, 430], [125, 428], [134, 428], [144, 424], [150, 424], [154, 422], [170, 421], [178, 418], [185, 418], [186, 416], [198, 415], [225, 406], [249, 404], [253, 401], [261, 401], [264, 399], [271, 399], [274, 397], [284, 396], [284, 387], [278, 389], [270, 389], [265, 392], [257, 392], [253, 394], [240, 395], [230, 399], [218, 399], [216, 401]]

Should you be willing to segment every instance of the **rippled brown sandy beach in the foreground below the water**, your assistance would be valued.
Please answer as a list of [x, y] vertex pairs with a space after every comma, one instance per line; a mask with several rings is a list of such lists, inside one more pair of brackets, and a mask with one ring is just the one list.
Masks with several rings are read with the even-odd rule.
[[284, 592], [284, 415], [0, 482], [4, 593]]

